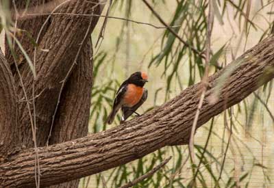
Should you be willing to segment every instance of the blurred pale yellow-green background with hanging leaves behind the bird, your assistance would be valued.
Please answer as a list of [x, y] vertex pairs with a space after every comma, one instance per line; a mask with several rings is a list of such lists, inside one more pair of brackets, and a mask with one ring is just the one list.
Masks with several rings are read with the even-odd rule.
[[[177, 26], [171, 29], [179, 38], [199, 53], [206, 50], [208, 0], [147, 2], [167, 25]], [[103, 15], [108, 5], [109, 1]], [[273, 6], [274, 1], [269, 0], [212, 0], [210, 75], [269, 35]], [[155, 28], [164, 25], [143, 1], [114, 0], [109, 16], [116, 18], [108, 18], [104, 39], [94, 50], [90, 133], [119, 124], [121, 113], [111, 126], [103, 126], [103, 121], [110, 113], [116, 90], [132, 72], [142, 70], [149, 75], [145, 86], [149, 98], [138, 109], [145, 113], [201, 81], [205, 70], [201, 54], [184, 45], [169, 29]], [[93, 44], [102, 24], [100, 18], [92, 33]], [[199, 163], [197, 187], [274, 187], [273, 112], [271, 81], [198, 129], [193, 165], [188, 146], [169, 146], [132, 163], [82, 178], [79, 187], [120, 187], [169, 156], [173, 158], [162, 170], [135, 187], [188, 187]]]

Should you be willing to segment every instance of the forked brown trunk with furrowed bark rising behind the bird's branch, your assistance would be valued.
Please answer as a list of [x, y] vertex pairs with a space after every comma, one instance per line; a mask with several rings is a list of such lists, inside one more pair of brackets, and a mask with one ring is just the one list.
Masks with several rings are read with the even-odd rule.
[[[49, 3], [54, 3], [54, 1], [55, 0], [31, 0], [29, 1], [29, 10], [35, 10], [34, 8], [36, 8], [36, 11], [42, 12], [49, 7]], [[58, 9], [58, 12], [100, 14], [101, 9], [97, 2], [98, 1], [69, 1], [68, 3], [64, 3], [64, 5]], [[16, 9], [19, 10], [19, 12], [20, 10], [25, 9], [25, 3], [26, 1], [16, 1]], [[12, 1], [10, 1], [10, 4], [14, 10]], [[12, 17], [14, 18], [14, 21], [17, 22], [17, 28], [28, 31], [34, 40], [36, 40], [36, 38], [38, 38], [38, 33], [48, 16], [32, 16], [27, 19], [18, 17], [16, 20], [15, 11], [12, 12]], [[38, 96], [36, 98], [36, 140], [38, 146], [45, 146], [51, 129], [49, 144], [57, 144], [69, 141], [70, 139], [84, 137], [88, 133], [88, 116], [92, 88], [92, 46], [90, 44], [89, 36], [95, 28], [98, 19], [98, 16], [90, 16], [89, 18], [82, 16], [51, 16], [40, 32], [38, 40], [40, 48], [37, 50], [36, 54], [36, 71], [38, 78], [34, 83], [36, 89], [34, 96]], [[86, 34], [88, 37], [84, 38]], [[16, 37], [20, 40], [23, 48], [29, 54], [29, 57], [34, 59], [34, 45], [27, 37], [27, 33], [22, 33]], [[10, 63], [19, 98], [25, 98], [23, 93], [24, 86], [27, 90], [27, 98], [31, 99], [32, 84], [34, 80], [32, 72], [29, 70], [29, 65], [27, 64], [23, 53], [15, 46], [14, 51], [16, 52], [16, 55], [18, 55], [16, 64], [23, 77], [22, 86], [8, 44], [5, 44], [5, 47], [5, 57]], [[49, 52], [40, 51], [40, 49], [49, 49]], [[74, 60], [78, 51], [80, 53], [75, 64]], [[66, 78], [66, 75], [72, 66], [73, 71], [71, 72], [71, 75]], [[65, 78], [66, 83], [64, 89], [61, 91], [62, 81], [64, 81]], [[51, 127], [52, 117], [55, 113], [55, 107], [58, 103], [60, 92], [62, 92], [60, 103], [56, 111], [53, 126]], [[0, 100], [5, 99], [1, 94], [0, 97]], [[10, 100], [12, 99], [13, 98], [10, 98]], [[7, 103], [10, 100], [6, 100]], [[10, 102], [9, 104], [12, 103]], [[17, 105], [13, 104], [11, 107], [16, 106]], [[17, 116], [19, 116], [19, 124], [15, 124], [14, 122], [11, 123], [16, 127], [20, 125], [21, 131], [11, 129], [12, 126], [8, 123], [3, 125], [8, 127], [8, 129], [11, 129], [14, 134], [19, 135], [19, 137], [14, 135], [14, 139], [9, 139], [14, 142], [15, 146], [18, 145], [18, 143], [21, 143], [25, 148], [32, 148], [34, 142], [32, 140], [32, 129], [30, 126], [27, 105], [26, 103], [20, 103], [18, 108], [20, 109], [19, 115], [10, 111], [14, 116], [16, 114], [16, 117], [11, 118], [10, 120], [15, 121], [18, 119]], [[33, 113], [33, 109], [31, 110]], [[12, 116], [7, 114], [5, 117], [10, 118]], [[77, 124], [75, 122], [77, 122]], [[2, 129], [2, 127], [0, 128], [1, 130], [5, 130]], [[5, 139], [8, 139], [8, 136], [11, 135], [5, 134]], [[9, 145], [8, 142], [5, 143], [7, 143], [4, 145], [6, 148], [14, 148], [11, 147], [14, 146], [14, 144]], [[8, 152], [3, 150], [3, 153]], [[78, 184], [79, 180], [73, 180], [53, 187], [78, 187]]]

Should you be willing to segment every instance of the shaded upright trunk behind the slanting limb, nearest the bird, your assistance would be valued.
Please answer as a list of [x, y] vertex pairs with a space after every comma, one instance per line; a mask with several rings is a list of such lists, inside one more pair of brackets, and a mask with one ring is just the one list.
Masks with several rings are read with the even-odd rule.
[[[92, 88], [92, 56], [90, 42], [86, 44], [62, 93], [49, 144], [57, 144], [88, 134], [88, 117]], [[51, 186], [78, 187], [79, 179]]]

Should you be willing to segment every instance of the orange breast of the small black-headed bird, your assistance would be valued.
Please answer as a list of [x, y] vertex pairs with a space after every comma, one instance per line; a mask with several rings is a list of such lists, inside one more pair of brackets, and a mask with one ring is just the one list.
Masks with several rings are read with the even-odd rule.
[[144, 88], [130, 83], [129, 85], [127, 85], [127, 91], [125, 92], [125, 96], [123, 97], [123, 105], [125, 105], [126, 107], [133, 107], [140, 101], [143, 93]]

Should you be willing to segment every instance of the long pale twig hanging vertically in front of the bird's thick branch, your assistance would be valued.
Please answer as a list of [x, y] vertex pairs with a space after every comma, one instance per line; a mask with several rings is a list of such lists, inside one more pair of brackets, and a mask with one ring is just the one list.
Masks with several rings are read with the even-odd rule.
[[[145, 1], [145, 0], [144, 0]], [[205, 68], [205, 72], [203, 75], [203, 79], [202, 79], [202, 92], [201, 92], [201, 96], [200, 96], [200, 100], [199, 100], [199, 104], [198, 104], [198, 108], [195, 114], [195, 118], [193, 120], [193, 124], [192, 124], [192, 129], [191, 129], [191, 135], [190, 135], [190, 140], [189, 140], [189, 150], [190, 150], [190, 159], [192, 162], [194, 162], [194, 134], [196, 131], [196, 127], [197, 127], [197, 122], [199, 119], [199, 114], [201, 111], [201, 107], [203, 105], [203, 99], [206, 96], [206, 90], [208, 88], [208, 69], [209, 69], [209, 62], [210, 62], [210, 45], [211, 45], [211, 34], [212, 34], [212, 25], [213, 25], [213, 21], [214, 21], [214, 14], [213, 14], [213, 8], [212, 8], [212, 0], [209, 1], [209, 13], [208, 13], [208, 29], [207, 29], [207, 33], [206, 33], [206, 68]]]

